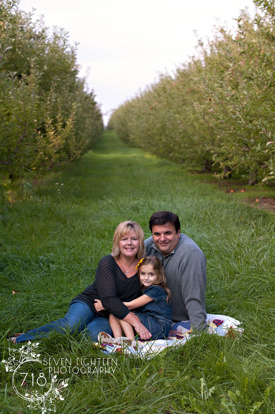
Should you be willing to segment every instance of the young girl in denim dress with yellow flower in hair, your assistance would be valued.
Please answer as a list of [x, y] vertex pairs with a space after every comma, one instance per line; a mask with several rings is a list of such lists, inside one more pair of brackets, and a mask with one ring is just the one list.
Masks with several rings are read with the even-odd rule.
[[[163, 266], [157, 257], [147, 256], [139, 261], [136, 270], [143, 294], [131, 302], [123, 303], [129, 310], [140, 308], [141, 312], [134, 312], [134, 315], [151, 332], [151, 339], [164, 339], [171, 329], [172, 310], [171, 293], [166, 286]], [[128, 322], [112, 314], [109, 322], [115, 338], [121, 337], [123, 330], [127, 338], [134, 339], [135, 332]]]

